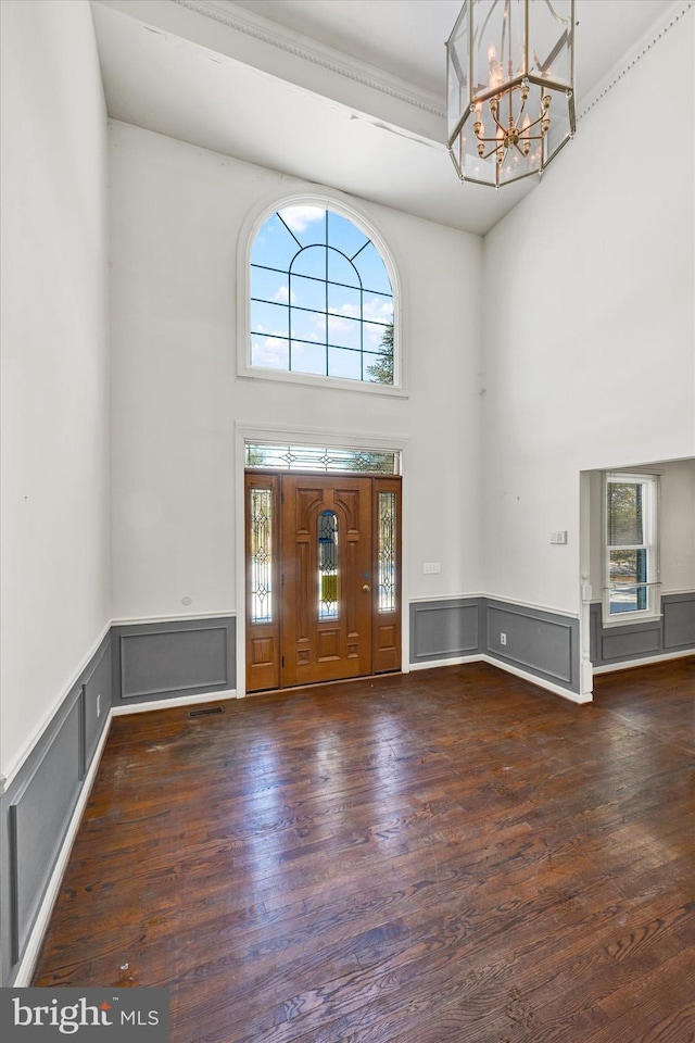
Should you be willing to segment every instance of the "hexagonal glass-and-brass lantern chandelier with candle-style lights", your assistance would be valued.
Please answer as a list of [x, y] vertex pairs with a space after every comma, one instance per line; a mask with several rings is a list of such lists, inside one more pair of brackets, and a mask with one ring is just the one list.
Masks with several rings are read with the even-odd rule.
[[574, 134], [574, 0], [466, 0], [446, 42], [447, 148], [459, 178], [542, 174]]

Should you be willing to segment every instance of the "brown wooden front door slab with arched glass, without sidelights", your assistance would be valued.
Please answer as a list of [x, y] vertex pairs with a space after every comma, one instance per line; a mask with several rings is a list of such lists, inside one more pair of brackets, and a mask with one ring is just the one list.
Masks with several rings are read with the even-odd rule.
[[280, 481], [282, 686], [370, 674], [371, 479]]

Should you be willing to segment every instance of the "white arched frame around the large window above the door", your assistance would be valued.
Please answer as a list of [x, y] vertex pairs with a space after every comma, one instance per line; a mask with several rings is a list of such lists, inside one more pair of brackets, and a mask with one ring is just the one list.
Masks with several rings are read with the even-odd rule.
[[[393, 292], [393, 384], [384, 385], [366, 380], [350, 380], [317, 374], [296, 373], [285, 369], [270, 369], [253, 366], [251, 363], [251, 252], [255, 238], [273, 214], [288, 206], [320, 206], [333, 211], [351, 221], [374, 243], [387, 269]], [[321, 388], [337, 388], [367, 394], [387, 394], [405, 397], [407, 394], [403, 353], [403, 307], [401, 281], [393, 254], [372, 219], [355, 210], [351, 203], [328, 192], [302, 192], [292, 196], [274, 197], [262, 208], [252, 212], [239, 237], [237, 256], [237, 373], [240, 377], [261, 380], [275, 380], [288, 384], [308, 385]]]

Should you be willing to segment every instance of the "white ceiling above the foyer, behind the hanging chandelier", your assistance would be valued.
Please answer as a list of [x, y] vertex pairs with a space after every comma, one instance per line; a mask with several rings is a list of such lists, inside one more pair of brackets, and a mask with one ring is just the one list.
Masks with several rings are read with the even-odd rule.
[[[444, 42], [460, 2], [92, 0], [109, 115], [484, 235], [538, 181], [458, 181], [443, 143]], [[578, 134], [681, 7], [577, 0]]]

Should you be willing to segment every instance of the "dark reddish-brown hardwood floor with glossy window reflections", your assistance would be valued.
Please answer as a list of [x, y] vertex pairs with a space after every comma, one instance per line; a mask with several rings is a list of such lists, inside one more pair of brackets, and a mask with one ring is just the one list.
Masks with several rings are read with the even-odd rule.
[[174, 1043], [695, 1040], [695, 657], [114, 718], [34, 984]]

